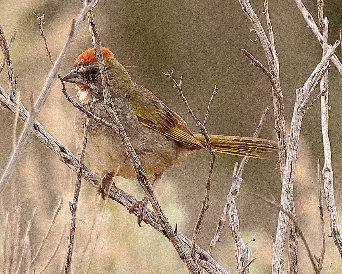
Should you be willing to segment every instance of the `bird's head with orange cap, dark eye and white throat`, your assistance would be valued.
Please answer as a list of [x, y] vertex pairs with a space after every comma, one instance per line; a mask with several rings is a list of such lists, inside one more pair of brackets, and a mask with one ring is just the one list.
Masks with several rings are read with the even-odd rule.
[[[102, 54], [109, 78], [110, 87], [123, 87], [131, 84], [132, 80], [122, 64], [114, 57], [113, 52], [102, 47]], [[70, 73], [63, 80], [74, 83], [78, 89], [77, 96], [83, 102], [91, 101], [91, 97], [102, 94], [102, 78], [98, 66], [98, 60], [94, 49], [87, 49], [82, 52], [75, 60], [75, 64]]]

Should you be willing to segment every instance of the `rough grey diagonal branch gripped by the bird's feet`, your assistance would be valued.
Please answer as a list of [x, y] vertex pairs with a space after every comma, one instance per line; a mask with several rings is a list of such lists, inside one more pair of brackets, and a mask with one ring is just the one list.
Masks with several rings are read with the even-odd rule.
[[[5, 92], [5, 90], [2, 87], [0, 87], [0, 103], [5, 108], [10, 110], [12, 113], [15, 113], [15, 104], [12, 102], [10, 96]], [[19, 119], [25, 123], [29, 113], [24, 108], [21, 102], [19, 102], [19, 106]], [[108, 124], [112, 125], [110, 123]], [[35, 121], [34, 123], [32, 133], [38, 138], [38, 140], [42, 144], [50, 148], [56, 154], [58, 159], [65, 163], [71, 170], [73, 170], [74, 172], [77, 171], [78, 160], [75, 157], [75, 155], [73, 155], [66, 146], [58, 142], [56, 139], [54, 139], [45, 130], [45, 128], [37, 121]], [[97, 185], [101, 182], [101, 177], [98, 174], [91, 171], [87, 166], [83, 166], [82, 177], [95, 188], [97, 188]], [[117, 201], [125, 208], [131, 208], [137, 202], [137, 199], [135, 199], [132, 195], [121, 190], [116, 186], [111, 188], [109, 198]], [[132, 213], [137, 215], [138, 211], [133, 210]], [[158, 232], [165, 235], [165, 230], [160, 225], [159, 220], [153, 211], [147, 209], [146, 219], [144, 221], [147, 224], [151, 225], [153, 228], [155, 228]], [[190, 252], [192, 241], [186, 238], [180, 231], [177, 231], [177, 237], [179, 238], [180, 243], [186, 248], [186, 250]], [[227, 274], [227, 272], [216, 261], [214, 261], [213, 258], [206, 251], [204, 251], [198, 246], [195, 247], [195, 250], [197, 253], [196, 257], [198, 264], [204, 269], [206, 269], [207, 272], [211, 274]]]

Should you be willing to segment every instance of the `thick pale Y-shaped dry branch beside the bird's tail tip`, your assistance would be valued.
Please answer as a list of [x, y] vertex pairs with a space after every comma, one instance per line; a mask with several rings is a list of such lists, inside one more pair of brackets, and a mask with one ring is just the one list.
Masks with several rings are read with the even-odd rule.
[[[248, 0], [239, 0], [242, 10], [247, 14], [250, 18], [254, 31], [260, 39], [261, 45], [266, 54], [266, 59], [269, 66], [269, 71], [271, 72], [274, 83], [277, 88], [273, 87], [273, 102], [274, 102], [274, 114], [275, 114], [275, 128], [278, 138], [279, 145], [279, 162], [280, 162], [280, 173], [282, 180], [282, 190], [281, 190], [281, 202], [280, 206], [286, 212], [290, 212], [293, 206], [293, 177], [295, 171], [295, 165], [297, 161], [297, 149], [299, 144], [299, 134], [302, 125], [302, 119], [305, 114], [305, 108], [307, 105], [307, 101], [311, 97], [313, 90], [320, 82], [324, 73], [328, 69], [328, 63], [331, 56], [335, 53], [337, 46], [339, 45], [339, 41], [333, 46], [328, 47], [327, 53], [324, 55], [322, 60], [318, 63], [317, 67], [310, 75], [310, 77], [305, 82], [302, 88], [296, 90], [296, 98], [294, 111], [292, 115], [291, 121], [291, 129], [289, 134], [289, 142], [287, 143], [285, 137], [285, 127], [284, 127], [284, 114], [283, 114], [283, 102], [282, 102], [282, 94], [280, 90], [280, 82], [279, 82], [279, 62], [277, 53], [274, 45], [273, 38], [273, 30], [271, 26], [271, 22], [268, 14], [268, 2], [265, 0], [265, 16], [266, 23], [269, 30], [269, 36], [271, 42], [268, 40], [266, 33], [260, 23], [258, 16], [253, 11]], [[279, 86], [278, 86], [279, 84]], [[277, 234], [274, 242], [273, 249], [273, 264], [272, 264], [272, 272], [273, 274], [282, 274], [284, 269], [284, 243], [285, 243], [285, 235], [286, 228], [288, 223], [288, 217], [282, 211], [279, 212], [278, 217], [278, 226], [277, 226]]]

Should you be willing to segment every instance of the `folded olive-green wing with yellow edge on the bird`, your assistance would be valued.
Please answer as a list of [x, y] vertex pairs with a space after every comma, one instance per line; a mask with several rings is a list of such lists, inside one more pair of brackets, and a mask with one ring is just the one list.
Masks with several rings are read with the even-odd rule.
[[203, 148], [203, 145], [187, 128], [186, 122], [148, 89], [140, 89], [140, 96], [129, 98], [131, 108], [139, 122], [146, 127], [184, 144]]

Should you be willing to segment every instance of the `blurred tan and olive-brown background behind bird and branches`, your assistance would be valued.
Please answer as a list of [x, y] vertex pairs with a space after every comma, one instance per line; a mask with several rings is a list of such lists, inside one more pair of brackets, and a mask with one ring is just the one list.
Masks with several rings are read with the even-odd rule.
[[[263, 1], [251, 1], [254, 11], [265, 23]], [[316, 1], [304, 1], [317, 22]], [[30, 109], [29, 93], [39, 94], [50, 62], [45, 51], [39, 26], [32, 12], [45, 14], [45, 35], [53, 58], [56, 58], [69, 34], [71, 20], [81, 9], [81, 2], [0, 0], [0, 23], [9, 40], [14, 28], [18, 35], [11, 50], [18, 89], [26, 108]], [[325, 1], [325, 15], [330, 21], [329, 42], [339, 37], [342, 28], [342, 6], [338, 0]], [[279, 53], [281, 86], [284, 94], [286, 122], [289, 129], [293, 111], [295, 89], [304, 82], [321, 59], [321, 48], [293, 1], [269, 2], [277, 52]], [[238, 1], [100, 1], [94, 10], [95, 22], [102, 45], [109, 47], [116, 58], [126, 65], [132, 79], [149, 88], [172, 110], [180, 114], [194, 133], [198, 132], [176, 89], [161, 72], [173, 69], [176, 77], [184, 75], [183, 90], [195, 114], [203, 120], [214, 85], [219, 88], [211, 105], [207, 129], [212, 134], [251, 136], [262, 111], [269, 107], [260, 137], [275, 139], [271, 86], [265, 75], [250, 65], [241, 54], [246, 48], [266, 63], [260, 42], [251, 42], [250, 21], [242, 12]], [[265, 24], [264, 24], [265, 26]], [[266, 27], [266, 26], [265, 26]], [[66, 75], [79, 53], [92, 47], [87, 22], [68, 52], [61, 75]], [[337, 49], [341, 56], [341, 47]], [[2, 55], [0, 55], [2, 58]], [[337, 210], [342, 218], [342, 165], [340, 90], [342, 77], [332, 65], [329, 70], [329, 102], [331, 104], [329, 134], [332, 147], [334, 185]], [[0, 85], [8, 90], [7, 73], [0, 75]], [[39, 115], [39, 122], [57, 140], [74, 153], [75, 139], [72, 130], [74, 109], [61, 92], [56, 81], [47, 103]], [[76, 97], [73, 85], [68, 91]], [[319, 93], [317, 89], [315, 95]], [[0, 171], [2, 172], [12, 151], [14, 115], [0, 108]], [[18, 133], [22, 127], [18, 123]], [[320, 107], [314, 104], [303, 120], [300, 148], [294, 183], [294, 202], [300, 227], [314, 254], [319, 255], [321, 233], [318, 215], [317, 159], [323, 162], [320, 130]], [[191, 238], [193, 227], [204, 198], [209, 168], [209, 154], [201, 151], [192, 154], [180, 167], [168, 170], [156, 188], [157, 197], [170, 222], [178, 224], [179, 231]], [[235, 161], [240, 157], [218, 155], [211, 184], [211, 206], [201, 226], [198, 244], [205, 250], [221, 215]], [[86, 162], [98, 171], [91, 159]], [[68, 202], [74, 193], [75, 174], [32, 135], [15, 179], [15, 196], [11, 187], [3, 196], [4, 212], [10, 213], [14, 224], [20, 215], [20, 235], [32, 218], [29, 232], [30, 252], [38, 249], [45, 235], [58, 201], [64, 203], [52, 228], [46, 246], [35, 267], [40, 271], [50, 258], [65, 223], [70, 218]], [[136, 180], [117, 178], [118, 187], [141, 199], [144, 194]], [[257, 260], [251, 273], [271, 273], [272, 236], [275, 236], [278, 211], [256, 197], [280, 197], [280, 176], [276, 163], [251, 159], [244, 174], [244, 182], [237, 199], [241, 234], [247, 241], [257, 232], [256, 241], [250, 243]], [[325, 201], [324, 201], [325, 205]], [[16, 210], [19, 208], [19, 210]], [[324, 206], [326, 234], [331, 233]], [[15, 213], [17, 212], [17, 213]], [[19, 214], [20, 213], [20, 214]], [[82, 183], [79, 198], [76, 244], [73, 273], [188, 273], [172, 244], [146, 224], [136, 224], [136, 217], [114, 201], [100, 201], [95, 189]], [[0, 236], [5, 238], [5, 221], [0, 218]], [[67, 250], [66, 233], [61, 245], [45, 273], [62, 272]], [[15, 229], [12, 228], [15, 235]], [[287, 249], [287, 247], [285, 248]], [[332, 258], [330, 273], [340, 273], [342, 262], [332, 238], [327, 238], [326, 272]], [[299, 240], [300, 273], [313, 273], [302, 242]], [[1, 254], [0, 256], [3, 256]], [[24, 258], [29, 258], [25, 252]], [[33, 256], [33, 255], [32, 255]], [[287, 256], [285, 256], [286, 258]], [[216, 246], [213, 258], [229, 273], [237, 273], [234, 242], [228, 225]], [[285, 263], [286, 265], [286, 263]], [[13, 270], [12, 270], [13, 272]], [[5, 273], [5, 272], [4, 272]], [[20, 273], [20, 272], [19, 272]]]

